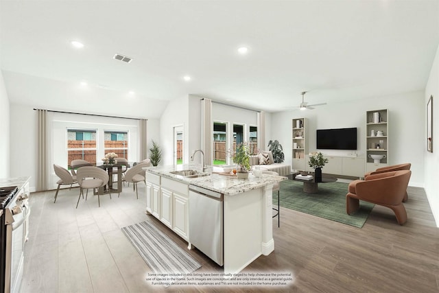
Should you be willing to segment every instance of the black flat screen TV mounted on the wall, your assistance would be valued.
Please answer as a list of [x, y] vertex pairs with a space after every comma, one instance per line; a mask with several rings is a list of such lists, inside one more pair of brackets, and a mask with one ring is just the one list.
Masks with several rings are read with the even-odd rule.
[[321, 150], [357, 150], [357, 128], [318, 129], [317, 148]]

